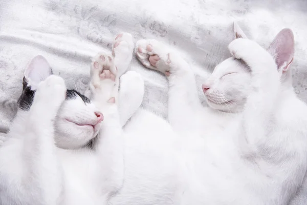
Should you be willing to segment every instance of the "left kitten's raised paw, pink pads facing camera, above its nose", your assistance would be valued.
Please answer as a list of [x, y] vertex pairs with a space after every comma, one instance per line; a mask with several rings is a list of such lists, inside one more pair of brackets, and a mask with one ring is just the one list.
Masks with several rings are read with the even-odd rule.
[[[107, 100], [114, 98], [115, 96], [112, 95], [117, 89], [117, 82], [117, 68], [113, 57], [102, 53], [97, 54], [91, 64], [90, 89], [92, 93], [107, 98]], [[115, 98], [109, 103], [115, 103]]]

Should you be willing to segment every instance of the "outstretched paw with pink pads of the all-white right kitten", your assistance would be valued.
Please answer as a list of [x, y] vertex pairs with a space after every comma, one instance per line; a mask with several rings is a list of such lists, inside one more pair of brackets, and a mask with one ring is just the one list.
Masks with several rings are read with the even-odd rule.
[[165, 45], [154, 39], [141, 39], [136, 44], [135, 52], [145, 67], [169, 75], [172, 54]]

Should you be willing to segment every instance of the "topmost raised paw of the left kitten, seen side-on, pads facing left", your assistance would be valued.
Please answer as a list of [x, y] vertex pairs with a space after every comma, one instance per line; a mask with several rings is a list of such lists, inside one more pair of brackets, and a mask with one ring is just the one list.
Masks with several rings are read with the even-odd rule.
[[134, 49], [133, 37], [129, 33], [120, 33], [115, 37], [112, 55], [118, 68], [118, 75], [128, 69]]

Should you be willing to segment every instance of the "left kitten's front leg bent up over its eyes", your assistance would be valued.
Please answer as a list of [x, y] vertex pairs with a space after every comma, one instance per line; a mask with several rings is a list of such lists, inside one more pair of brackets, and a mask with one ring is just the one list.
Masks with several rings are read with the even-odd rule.
[[59, 204], [63, 191], [62, 168], [54, 142], [54, 119], [65, 97], [64, 80], [51, 75], [40, 83], [29, 111], [29, 128], [33, 135], [27, 136], [25, 146], [28, 154], [33, 154], [33, 173], [38, 177], [32, 177], [36, 178], [46, 204]]

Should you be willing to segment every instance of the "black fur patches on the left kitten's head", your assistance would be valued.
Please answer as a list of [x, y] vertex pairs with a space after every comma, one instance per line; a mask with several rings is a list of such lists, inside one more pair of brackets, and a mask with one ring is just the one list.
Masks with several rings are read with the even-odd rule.
[[[32, 106], [35, 91], [31, 90], [29, 86], [27, 86], [27, 80], [24, 77], [23, 79], [23, 93], [21, 93], [20, 97], [18, 98], [17, 105], [21, 110], [29, 110]], [[82, 95], [81, 93], [75, 90], [67, 90], [66, 92], [66, 99], [75, 99], [77, 96], [81, 97], [84, 103], [91, 103], [91, 100], [86, 96]]]

